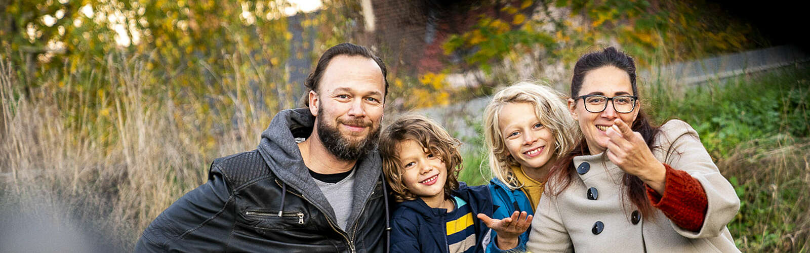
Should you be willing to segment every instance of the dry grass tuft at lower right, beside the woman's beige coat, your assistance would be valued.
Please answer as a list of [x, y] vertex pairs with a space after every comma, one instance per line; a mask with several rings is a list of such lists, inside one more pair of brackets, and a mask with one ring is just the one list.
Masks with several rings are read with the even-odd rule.
[[729, 224], [741, 250], [810, 251], [810, 139], [774, 135], [718, 162], [740, 196]]

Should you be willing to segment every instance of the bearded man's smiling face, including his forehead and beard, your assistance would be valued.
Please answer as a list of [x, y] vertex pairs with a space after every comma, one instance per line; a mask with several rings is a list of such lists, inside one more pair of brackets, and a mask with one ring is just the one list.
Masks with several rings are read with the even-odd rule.
[[371, 58], [332, 58], [318, 91], [309, 92], [318, 139], [335, 157], [357, 160], [373, 149], [382, 119], [385, 82]]

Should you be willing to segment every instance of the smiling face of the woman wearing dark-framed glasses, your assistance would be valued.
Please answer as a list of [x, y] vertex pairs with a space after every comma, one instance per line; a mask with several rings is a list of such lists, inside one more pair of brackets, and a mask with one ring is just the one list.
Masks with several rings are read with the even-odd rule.
[[[633, 94], [630, 76], [627, 75], [627, 72], [620, 70], [616, 66], [602, 66], [587, 72], [585, 78], [582, 80], [582, 89], [580, 89], [579, 94], [574, 96], [589, 94], [608, 97], [621, 95], [636, 96], [636, 94]], [[607, 149], [610, 138], [605, 134], [605, 130], [613, 125], [613, 120], [620, 118], [628, 126], [633, 126], [633, 122], [638, 116], [638, 104], [636, 104], [633, 111], [627, 114], [620, 114], [613, 109], [613, 101], [608, 101], [608, 107], [601, 113], [591, 113], [587, 111], [583, 103], [584, 101], [582, 101], [582, 99], [576, 101], [569, 99], [568, 106], [573, 118], [576, 118], [579, 122], [579, 128], [582, 129], [582, 134], [585, 135], [590, 154], [598, 154]], [[636, 101], [636, 103], [638, 103], [638, 101]]]

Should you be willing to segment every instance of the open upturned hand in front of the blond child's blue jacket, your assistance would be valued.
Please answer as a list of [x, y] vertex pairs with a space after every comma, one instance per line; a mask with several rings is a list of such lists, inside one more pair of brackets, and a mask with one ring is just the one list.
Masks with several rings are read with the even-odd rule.
[[514, 211], [511, 217], [505, 217], [501, 220], [492, 219], [484, 213], [479, 213], [477, 217], [481, 221], [484, 221], [484, 224], [490, 229], [495, 229], [495, 232], [497, 232], [496, 246], [501, 250], [509, 250], [518, 247], [518, 236], [526, 232], [533, 218], [525, 211]]

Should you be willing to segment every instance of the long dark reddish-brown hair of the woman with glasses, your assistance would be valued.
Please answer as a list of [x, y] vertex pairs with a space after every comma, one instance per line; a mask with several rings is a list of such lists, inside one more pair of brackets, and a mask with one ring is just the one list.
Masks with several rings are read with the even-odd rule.
[[[630, 84], [633, 87], [633, 96], [638, 96], [638, 88], [636, 86], [636, 64], [633, 58], [627, 54], [619, 52], [616, 48], [608, 47], [602, 51], [585, 54], [579, 58], [577, 64], [573, 66], [573, 78], [571, 79], [571, 97], [579, 96], [579, 91], [582, 89], [582, 81], [585, 79], [590, 71], [598, 69], [603, 66], [615, 66], [616, 68], [627, 72], [630, 77]], [[642, 108], [638, 109], [638, 116], [630, 126], [633, 131], [642, 134], [647, 148], [653, 148], [652, 144], [655, 140], [655, 135], [658, 134], [659, 126], [654, 126]], [[586, 139], [582, 139], [578, 146], [573, 148], [565, 157], [557, 160], [552, 169], [549, 171], [548, 187], [551, 190], [549, 193], [552, 195], [559, 195], [565, 188], [571, 184], [571, 180], [575, 171], [573, 166], [573, 157], [590, 154]], [[644, 182], [641, 178], [632, 174], [625, 174], [622, 178], [622, 188], [626, 189], [630, 201], [642, 212], [642, 215], [647, 215], [652, 212], [652, 206], [647, 199], [646, 189]], [[646, 216], [649, 217], [649, 216]]]

